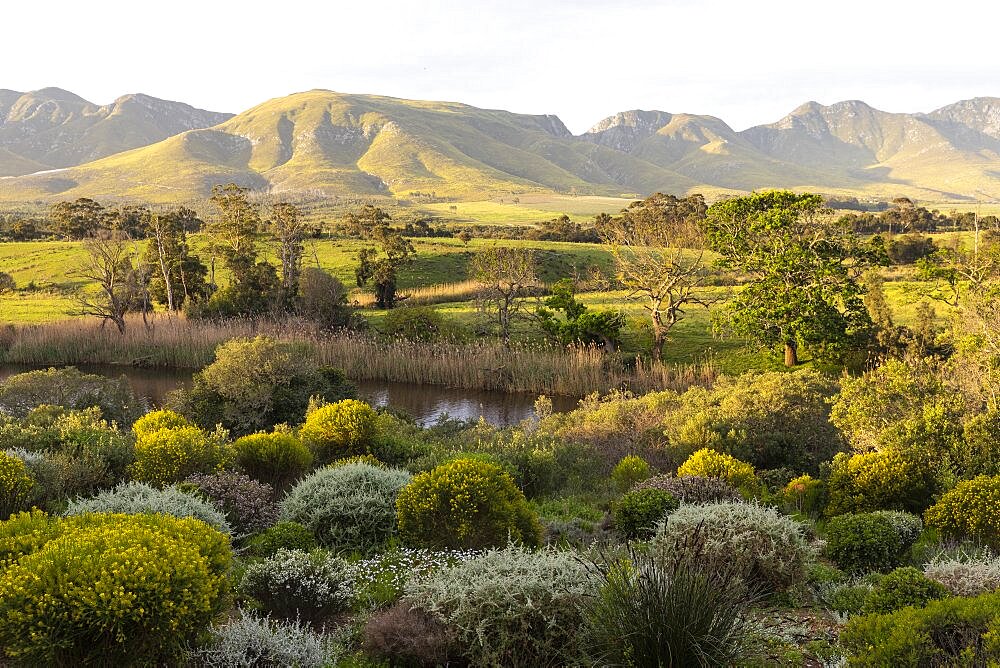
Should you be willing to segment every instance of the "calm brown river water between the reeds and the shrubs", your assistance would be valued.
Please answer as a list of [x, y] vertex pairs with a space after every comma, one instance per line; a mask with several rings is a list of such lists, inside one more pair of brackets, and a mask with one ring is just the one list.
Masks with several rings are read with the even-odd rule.
[[[0, 365], [0, 380], [32, 368]], [[162, 406], [171, 391], [191, 385], [191, 372], [182, 369], [140, 369], [92, 364], [82, 364], [77, 368], [102, 376], [125, 376], [132, 391], [148, 399], [154, 406]], [[482, 417], [490, 424], [504, 427], [515, 425], [534, 415], [536, 397], [531, 394], [456, 390], [436, 385], [380, 381], [360, 381], [356, 384], [360, 398], [374, 406], [388, 406], [406, 413], [424, 426], [446, 417], [457, 420], [478, 420]], [[568, 411], [575, 408], [576, 399], [553, 397], [552, 405], [555, 411]]]

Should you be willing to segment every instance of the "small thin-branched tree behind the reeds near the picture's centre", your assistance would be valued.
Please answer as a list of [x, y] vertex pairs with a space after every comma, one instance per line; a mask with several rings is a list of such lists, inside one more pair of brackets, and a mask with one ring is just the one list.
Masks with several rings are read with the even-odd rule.
[[480, 305], [492, 311], [500, 336], [510, 343], [510, 325], [524, 297], [539, 284], [534, 251], [528, 248], [493, 246], [480, 251], [472, 261], [472, 272], [482, 287]]

